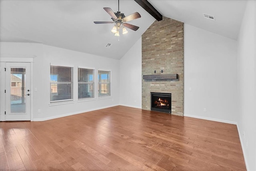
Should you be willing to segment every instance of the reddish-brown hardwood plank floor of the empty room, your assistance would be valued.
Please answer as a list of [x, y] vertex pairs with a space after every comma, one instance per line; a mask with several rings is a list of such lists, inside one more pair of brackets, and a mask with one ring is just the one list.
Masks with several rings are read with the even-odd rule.
[[246, 170], [236, 125], [116, 106], [0, 122], [0, 170]]

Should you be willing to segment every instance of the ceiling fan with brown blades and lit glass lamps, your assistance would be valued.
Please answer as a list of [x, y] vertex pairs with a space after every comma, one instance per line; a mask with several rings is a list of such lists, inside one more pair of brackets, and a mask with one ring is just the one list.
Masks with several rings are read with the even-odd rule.
[[[115, 36], [119, 35], [119, 30], [122, 29], [123, 34], [127, 34], [128, 31], [126, 28], [130, 28], [131, 30], [138, 30], [138, 26], [134, 26], [132, 24], [128, 24], [125, 22], [135, 20], [137, 18], [140, 18], [140, 14], [138, 12], [134, 12], [133, 14], [130, 14], [129, 16], [125, 16], [124, 13], [121, 13], [119, 11], [119, 0], [118, 0], [118, 12], [113, 12], [111, 8], [103, 8], [112, 18], [113, 21], [111, 22], [94, 22], [95, 24], [112, 24], [115, 23], [114, 27], [112, 28], [111, 32], [115, 34]], [[126, 27], [126, 28], [125, 28]]]

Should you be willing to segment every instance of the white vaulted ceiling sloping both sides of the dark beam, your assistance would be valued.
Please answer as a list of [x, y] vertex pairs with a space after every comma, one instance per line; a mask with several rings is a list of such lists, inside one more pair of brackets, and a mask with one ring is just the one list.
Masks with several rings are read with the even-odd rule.
[[[244, 14], [244, 0], [148, 0], [163, 16], [236, 40]], [[38, 42], [50, 46], [120, 59], [154, 22], [154, 18], [134, 0], [120, 0], [126, 16], [139, 12], [141, 18], [128, 23], [135, 32], [114, 36], [114, 24], [103, 10], [118, 11], [118, 0], [1, 0], [0, 41]], [[203, 13], [215, 16], [215, 21]], [[105, 48], [111, 43], [110, 48]]]

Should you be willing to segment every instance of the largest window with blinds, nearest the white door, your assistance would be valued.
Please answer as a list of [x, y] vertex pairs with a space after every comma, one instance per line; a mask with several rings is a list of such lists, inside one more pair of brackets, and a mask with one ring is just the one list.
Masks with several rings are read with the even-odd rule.
[[50, 103], [73, 100], [73, 68], [50, 66]]

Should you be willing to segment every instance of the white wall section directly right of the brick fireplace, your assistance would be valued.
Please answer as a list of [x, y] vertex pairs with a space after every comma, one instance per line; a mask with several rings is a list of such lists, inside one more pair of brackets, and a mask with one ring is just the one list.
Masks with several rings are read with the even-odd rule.
[[236, 47], [235, 40], [184, 24], [184, 116], [236, 124]]

